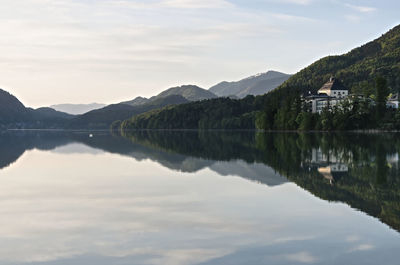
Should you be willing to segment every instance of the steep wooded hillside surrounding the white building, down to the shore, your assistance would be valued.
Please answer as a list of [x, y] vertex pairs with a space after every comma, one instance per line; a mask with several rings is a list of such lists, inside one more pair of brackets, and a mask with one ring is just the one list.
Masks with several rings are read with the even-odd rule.
[[[315, 93], [335, 76], [357, 95], [352, 102], [310, 114], [300, 95]], [[292, 76], [266, 97], [257, 127], [267, 130], [399, 129], [400, 113], [386, 109], [386, 97], [400, 89], [400, 26], [341, 56], [328, 56]], [[361, 97], [358, 97], [361, 96]]]

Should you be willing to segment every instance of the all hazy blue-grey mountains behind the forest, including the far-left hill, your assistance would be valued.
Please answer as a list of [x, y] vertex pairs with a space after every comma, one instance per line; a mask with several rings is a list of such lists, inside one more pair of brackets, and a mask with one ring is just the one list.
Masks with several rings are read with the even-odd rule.
[[[136, 97], [118, 104], [57, 104], [26, 108], [16, 97], [0, 90], [0, 126], [2, 128], [107, 129], [111, 123], [126, 120], [169, 105], [179, 105], [218, 97], [242, 98], [266, 93], [283, 83], [289, 75], [269, 71], [238, 82], [222, 82], [209, 90], [196, 85], [169, 88], [156, 96]], [[0, 128], [1, 128], [0, 127]]]

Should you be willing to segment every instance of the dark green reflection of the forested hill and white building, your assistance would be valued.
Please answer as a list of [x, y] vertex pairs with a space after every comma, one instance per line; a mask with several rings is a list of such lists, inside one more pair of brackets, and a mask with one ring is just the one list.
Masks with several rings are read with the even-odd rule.
[[[400, 231], [399, 134], [142, 131], [126, 137], [191, 157], [267, 165], [315, 196], [345, 202]], [[265, 183], [262, 174], [256, 180]]]

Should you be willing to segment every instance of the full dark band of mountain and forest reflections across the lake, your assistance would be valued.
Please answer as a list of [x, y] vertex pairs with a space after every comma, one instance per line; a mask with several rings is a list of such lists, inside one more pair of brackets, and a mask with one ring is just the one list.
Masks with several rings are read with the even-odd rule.
[[344, 202], [400, 231], [398, 134], [298, 134], [204, 131], [3, 132], [0, 169], [31, 149], [81, 143], [181, 172], [209, 168], [268, 186], [294, 182]]

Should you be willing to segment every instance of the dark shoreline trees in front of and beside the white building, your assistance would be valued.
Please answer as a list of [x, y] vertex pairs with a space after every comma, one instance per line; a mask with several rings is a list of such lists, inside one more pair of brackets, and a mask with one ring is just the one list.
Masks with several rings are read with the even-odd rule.
[[[300, 94], [289, 93], [282, 101], [282, 94], [289, 89], [274, 91], [266, 98], [264, 111], [259, 112], [256, 125], [265, 130], [360, 130], [400, 129], [399, 109], [387, 108], [387, 97], [392, 89], [383, 77], [375, 79], [368, 96], [352, 95], [321, 113], [311, 113]], [[300, 92], [299, 92], [300, 93]]]

